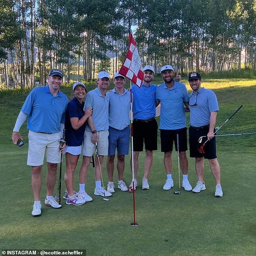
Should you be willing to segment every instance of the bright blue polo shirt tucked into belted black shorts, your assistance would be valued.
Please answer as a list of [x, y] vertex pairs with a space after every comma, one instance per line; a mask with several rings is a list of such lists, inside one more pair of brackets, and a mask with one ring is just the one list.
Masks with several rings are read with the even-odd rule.
[[141, 85], [141, 88], [132, 85], [133, 118], [146, 120], [155, 117], [155, 90], [157, 85]]

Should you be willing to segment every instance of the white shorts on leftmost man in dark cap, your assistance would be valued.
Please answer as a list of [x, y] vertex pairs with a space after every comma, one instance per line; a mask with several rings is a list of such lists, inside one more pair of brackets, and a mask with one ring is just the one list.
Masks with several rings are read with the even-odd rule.
[[33, 132], [28, 133], [28, 153], [27, 165], [41, 166], [44, 164], [44, 155], [46, 161], [51, 164], [61, 162], [61, 151], [59, 150], [59, 140], [61, 132], [52, 134]]

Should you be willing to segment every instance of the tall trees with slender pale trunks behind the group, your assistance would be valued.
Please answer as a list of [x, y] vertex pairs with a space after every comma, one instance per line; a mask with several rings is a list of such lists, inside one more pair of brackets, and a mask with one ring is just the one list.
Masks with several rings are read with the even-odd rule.
[[68, 82], [74, 73], [113, 74], [129, 30], [143, 65], [157, 72], [165, 63], [180, 72], [256, 70], [256, 0], [0, 0], [0, 7], [5, 86], [43, 85], [53, 67]]

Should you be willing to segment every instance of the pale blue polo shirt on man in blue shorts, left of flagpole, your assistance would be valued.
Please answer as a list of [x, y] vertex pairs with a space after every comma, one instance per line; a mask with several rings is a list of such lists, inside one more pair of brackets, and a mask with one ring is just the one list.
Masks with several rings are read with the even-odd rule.
[[123, 94], [119, 94], [115, 88], [107, 93], [109, 96], [109, 126], [118, 130], [123, 130], [130, 125], [130, 92], [124, 89]]

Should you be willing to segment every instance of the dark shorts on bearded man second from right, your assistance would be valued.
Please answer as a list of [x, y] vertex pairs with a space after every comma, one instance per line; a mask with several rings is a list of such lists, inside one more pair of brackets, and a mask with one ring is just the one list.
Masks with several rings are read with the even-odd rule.
[[160, 130], [162, 152], [172, 151], [173, 142], [176, 151], [178, 151], [177, 134], [179, 151], [187, 151], [187, 127], [185, 127], [177, 130]]

